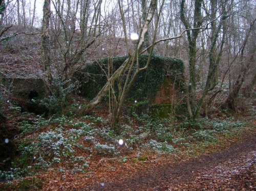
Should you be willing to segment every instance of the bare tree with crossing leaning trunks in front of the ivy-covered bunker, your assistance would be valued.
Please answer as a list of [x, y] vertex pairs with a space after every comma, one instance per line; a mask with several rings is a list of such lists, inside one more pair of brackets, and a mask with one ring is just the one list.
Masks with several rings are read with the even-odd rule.
[[[100, 92], [97, 94], [97, 96], [88, 105], [88, 107], [82, 111], [82, 113], [84, 113], [84, 114], [89, 113], [96, 105], [98, 105], [101, 102], [101, 100], [104, 97], [104, 95], [106, 94], [106, 92], [109, 91], [110, 85], [114, 84], [117, 81], [118, 87], [119, 87], [119, 97], [118, 97], [117, 103], [114, 107], [114, 111], [112, 113], [112, 124], [113, 125], [115, 125], [118, 122], [119, 115], [121, 112], [121, 107], [125, 100], [125, 96], [126, 96], [127, 92], [129, 92], [137, 75], [139, 74], [140, 71], [146, 69], [148, 67], [148, 64], [150, 63], [151, 56], [152, 56], [153, 49], [154, 49], [155, 40], [156, 40], [155, 39], [156, 33], [157, 33], [157, 29], [156, 29], [155, 34], [154, 34], [153, 43], [151, 45], [150, 56], [148, 57], [148, 60], [147, 60], [147, 64], [145, 67], [140, 68], [139, 62], [138, 62], [138, 56], [142, 53], [146, 32], [148, 31], [150, 23], [151, 23], [154, 15], [155, 15], [155, 12], [157, 10], [157, 1], [152, 0], [150, 2], [150, 5], [148, 6], [148, 8], [144, 9], [144, 11], [147, 13], [147, 15], [146, 15], [146, 19], [144, 20], [143, 27], [139, 34], [138, 43], [136, 44], [135, 51], [133, 53], [131, 52], [129, 44], [128, 44], [128, 35], [127, 35], [127, 30], [126, 30], [126, 21], [124, 18], [122, 2], [118, 1], [118, 6], [119, 6], [120, 15], [122, 17], [122, 26], [123, 26], [122, 29], [124, 31], [124, 41], [126, 44], [126, 49], [127, 49], [129, 58], [127, 58], [124, 61], [124, 63], [115, 71], [115, 73], [110, 77], [109, 81], [104, 85], [104, 87], [100, 90]], [[161, 14], [162, 6], [163, 6], [163, 2], [161, 3], [160, 9], [157, 12], [157, 18], [158, 18], [157, 26], [158, 26], [160, 14]], [[135, 65], [136, 65], [136, 70], [134, 71], [133, 66], [135, 66]], [[124, 85], [122, 86], [121, 77], [125, 73], [125, 71], [127, 71], [127, 74], [126, 74], [127, 76], [125, 78]]]

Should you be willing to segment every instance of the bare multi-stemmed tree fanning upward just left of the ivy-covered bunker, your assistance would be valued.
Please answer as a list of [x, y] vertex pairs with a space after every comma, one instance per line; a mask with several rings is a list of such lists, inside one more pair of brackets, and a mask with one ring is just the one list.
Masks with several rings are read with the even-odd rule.
[[[67, 2], [67, 11], [63, 12], [64, 2], [53, 2], [56, 15], [53, 16], [53, 34], [57, 42], [59, 52], [56, 52], [56, 62], [63, 65], [59, 75], [63, 80], [70, 79], [75, 72], [75, 66], [81, 62], [83, 55], [95, 40], [109, 29], [110, 26], [101, 23], [102, 1], [71, 1]], [[77, 18], [79, 5], [80, 19]], [[57, 18], [57, 19], [56, 19]], [[90, 20], [89, 20], [90, 19]], [[88, 26], [90, 23], [91, 26]], [[59, 56], [61, 55], [61, 56]]]

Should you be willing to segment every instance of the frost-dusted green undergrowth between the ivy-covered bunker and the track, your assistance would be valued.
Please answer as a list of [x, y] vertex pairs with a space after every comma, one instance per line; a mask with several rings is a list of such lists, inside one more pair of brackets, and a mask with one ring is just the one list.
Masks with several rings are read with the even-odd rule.
[[160, 157], [178, 153], [181, 148], [193, 150], [195, 145], [218, 144], [220, 136], [231, 136], [253, 126], [235, 116], [170, 123], [168, 118], [132, 112], [113, 128], [108, 115], [100, 116], [103, 108], [93, 115], [76, 115], [75, 110], [81, 107], [77, 102], [72, 103], [66, 115], [51, 118], [31, 117], [15, 103], [9, 103], [9, 107], [19, 133], [12, 140], [18, 155], [9, 170], [0, 171], [1, 180], [8, 182], [49, 169], [63, 173], [62, 179], [66, 173], [90, 176], [94, 171], [90, 164], [100, 158], [115, 158], [122, 163], [135, 154], [134, 161], [144, 161], [147, 157], [143, 153]]

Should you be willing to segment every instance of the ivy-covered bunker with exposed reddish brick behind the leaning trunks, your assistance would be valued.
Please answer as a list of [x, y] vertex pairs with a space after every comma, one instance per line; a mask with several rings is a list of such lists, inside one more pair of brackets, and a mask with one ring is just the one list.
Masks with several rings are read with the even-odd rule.
[[[110, 73], [113, 74], [126, 59], [127, 56], [124, 56], [86, 63], [76, 73], [81, 84], [81, 96], [93, 99], [108, 79], [108, 68], [111, 68]], [[140, 67], [145, 66], [147, 59], [147, 54], [139, 56]], [[181, 59], [153, 55], [150, 65], [138, 75], [127, 98], [137, 101], [138, 107], [135, 105], [134, 109], [140, 110], [139, 112], [146, 112], [143, 108], [148, 110], [148, 106], [155, 108], [155, 105], [166, 107], [166, 104], [181, 104], [185, 91], [184, 82], [184, 63]], [[115, 90], [118, 92], [117, 84]]]

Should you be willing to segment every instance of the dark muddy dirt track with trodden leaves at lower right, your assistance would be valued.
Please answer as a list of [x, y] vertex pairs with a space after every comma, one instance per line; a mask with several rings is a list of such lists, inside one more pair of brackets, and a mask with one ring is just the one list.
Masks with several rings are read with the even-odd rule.
[[[80, 190], [256, 190], [256, 138], [228, 150]], [[122, 175], [118, 175], [122, 176]]]

